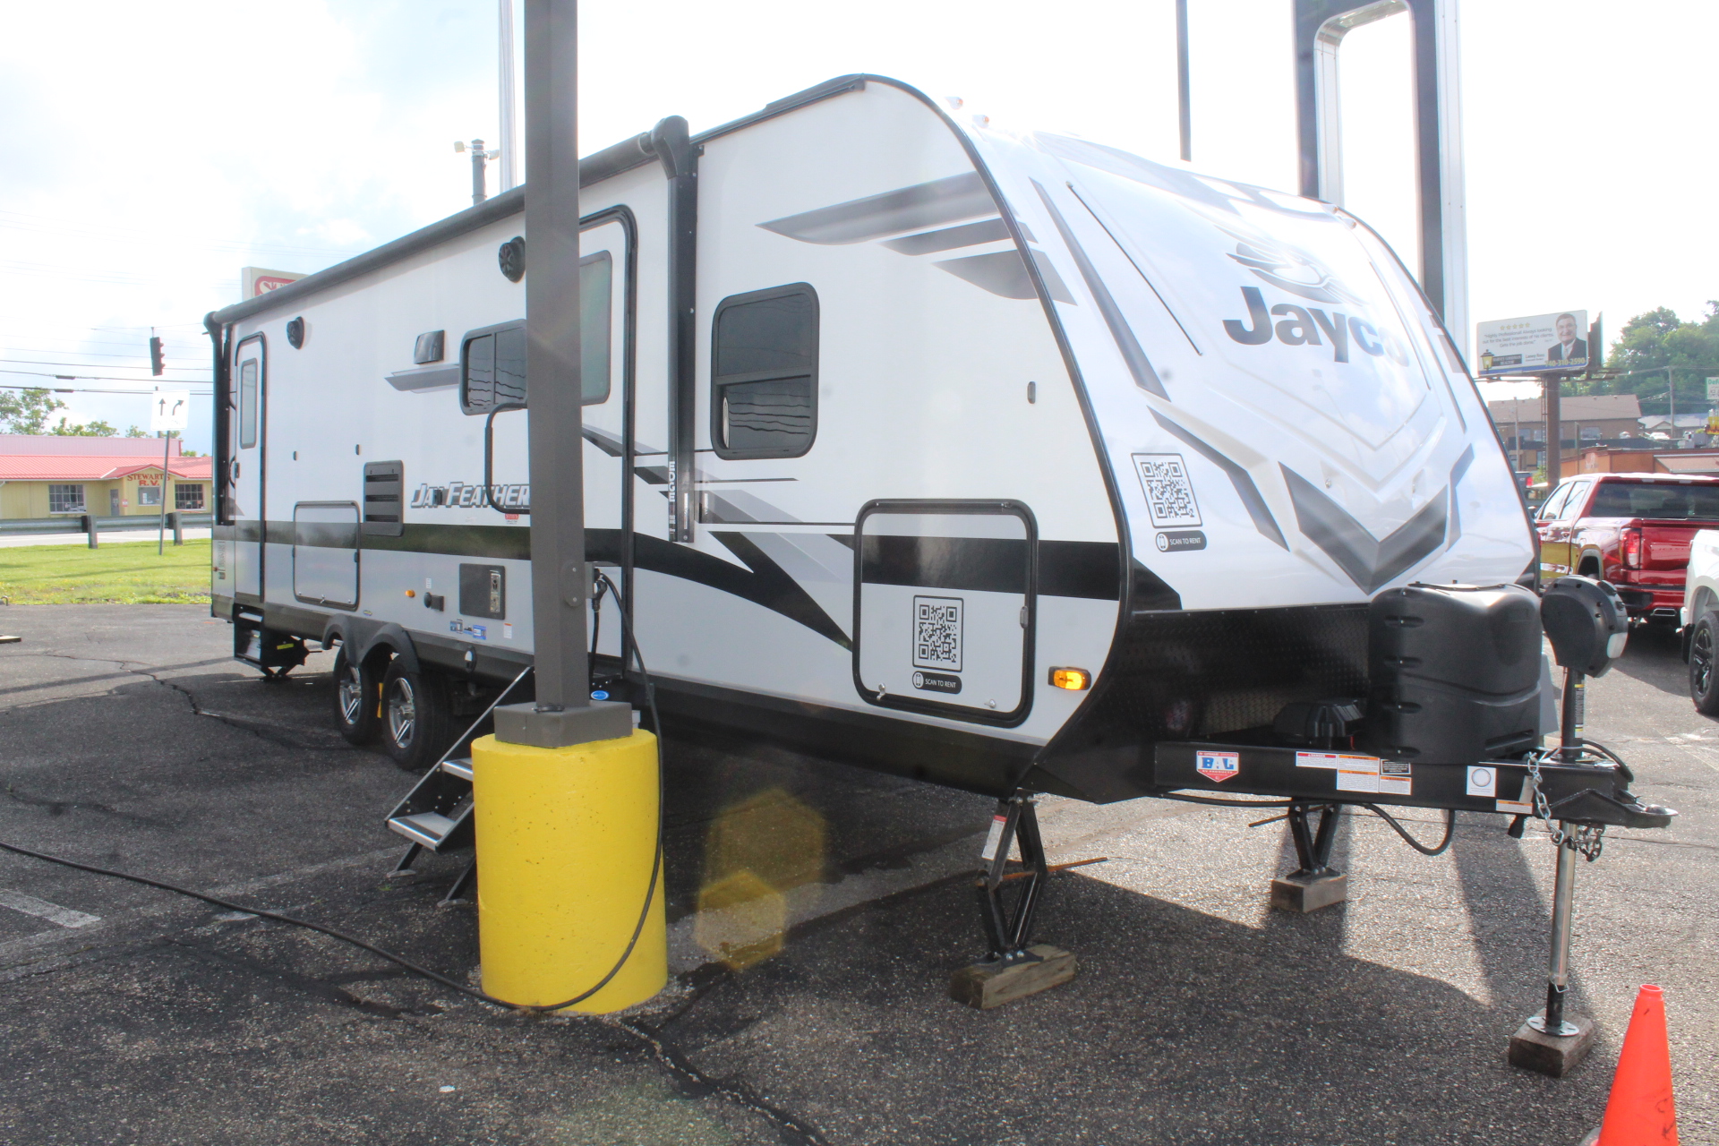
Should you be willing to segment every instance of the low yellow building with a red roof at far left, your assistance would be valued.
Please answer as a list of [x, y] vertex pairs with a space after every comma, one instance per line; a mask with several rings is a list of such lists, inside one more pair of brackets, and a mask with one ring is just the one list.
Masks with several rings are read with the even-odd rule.
[[0, 517], [95, 514], [125, 517], [168, 510], [208, 512], [215, 460], [184, 457], [179, 438], [74, 438], [0, 435]]

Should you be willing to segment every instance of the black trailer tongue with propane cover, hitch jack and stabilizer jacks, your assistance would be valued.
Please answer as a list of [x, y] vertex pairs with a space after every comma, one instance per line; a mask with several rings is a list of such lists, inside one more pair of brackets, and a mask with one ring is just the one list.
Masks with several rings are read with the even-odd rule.
[[[1630, 790], [1628, 765], [1583, 737], [1587, 679], [1604, 675], [1628, 639], [1618, 591], [1604, 581], [1561, 577], [1535, 605], [1520, 586], [1411, 584], [1380, 593], [1368, 608], [1367, 698], [1291, 703], [1270, 728], [1248, 737], [1159, 741], [1141, 777], [1150, 777], [1145, 794], [1164, 799], [1282, 808], [1270, 820], [1289, 821], [1300, 866], [1272, 881], [1272, 905], [1300, 912], [1348, 897], [1348, 876], [1331, 866], [1344, 806], [1382, 816], [1427, 856], [1449, 847], [1458, 811], [1508, 814], [1514, 838], [1530, 820], [1542, 825], [1557, 849], [1547, 995], [1511, 1038], [1509, 1060], [1563, 1076], [1594, 1039], [1592, 1022], [1566, 1015], [1575, 857], [1599, 859], [1607, 828], [1664, 828], [1676, 813], [1643, 804]], [[1556, 747], [1542, 746], [1540, 734], [1551, 708], [1542, 629], [1564, 670]], [[1384, 806], [1442, 809], [1444, 838], [1416, 840]], [[976, 885], [992, 950], [952, 986], [956, 998], [975, 1005], [988, 1005], [975, 983], [1006, 997], [1002, 976], [1011, 967], [1037, 972], [1045, 984], [1061, 981], [1038, 969], [1061, 952], [1028, 945], [1049, 875], [1031, 801], [999, 801], [995, 823], [1000, 832], [987, 844]], [[1007, 869], [1011, 842], [1019, 847], [1019, 873]]]

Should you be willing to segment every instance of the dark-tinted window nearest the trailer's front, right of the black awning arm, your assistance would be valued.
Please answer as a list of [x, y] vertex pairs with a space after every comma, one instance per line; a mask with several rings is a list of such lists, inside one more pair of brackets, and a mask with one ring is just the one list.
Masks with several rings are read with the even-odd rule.
[[799, 457], [818, 430], [818, 296], [803, 282], [717, 304], [710, 440], [719, 457]]

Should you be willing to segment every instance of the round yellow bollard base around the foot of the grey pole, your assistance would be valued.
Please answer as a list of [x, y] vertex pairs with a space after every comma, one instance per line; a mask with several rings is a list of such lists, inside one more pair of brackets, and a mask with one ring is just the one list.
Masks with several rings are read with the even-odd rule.
[[[547, 1007], [593, 988], [633, 938], [657, 854], [657, 737], [571, 747], [471, 746], [483, 990]], [[609, 984], [569, 1007], [645, 1002], [669, 981], [662, 871], [638, 945]]]

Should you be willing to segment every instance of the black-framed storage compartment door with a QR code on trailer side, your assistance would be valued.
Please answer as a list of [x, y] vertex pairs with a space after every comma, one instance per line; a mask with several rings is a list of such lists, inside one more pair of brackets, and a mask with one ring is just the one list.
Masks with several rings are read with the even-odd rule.
[[1037, 531], [1014, 502], [873, 502], [854, 550], [872, 704], [1014, 725], [1031, 706]]

